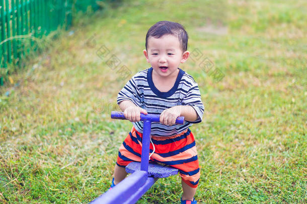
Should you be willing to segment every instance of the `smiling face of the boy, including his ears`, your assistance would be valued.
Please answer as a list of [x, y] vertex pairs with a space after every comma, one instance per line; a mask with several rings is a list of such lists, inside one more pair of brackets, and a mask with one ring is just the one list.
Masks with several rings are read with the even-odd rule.
[[177, 77], [179, 64], [185, 62], [190, 54], [182, 51], [178, 37], [173, 35], [150, 37], [147, 51], [143, 50], [143, 53], [154, 69], [152, 74], [164, 79]]

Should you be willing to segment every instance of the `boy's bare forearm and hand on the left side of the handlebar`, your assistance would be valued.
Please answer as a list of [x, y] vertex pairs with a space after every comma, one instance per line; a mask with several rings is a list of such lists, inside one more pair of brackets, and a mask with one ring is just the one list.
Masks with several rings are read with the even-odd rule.
[[140, 121], [140, 113], [147, 114], [147, 111], [145, 109], [136, 106], [129, 100], [124, 100], [120, 102], [119, 107], [124, 112], [124, 116], [130, 122]]

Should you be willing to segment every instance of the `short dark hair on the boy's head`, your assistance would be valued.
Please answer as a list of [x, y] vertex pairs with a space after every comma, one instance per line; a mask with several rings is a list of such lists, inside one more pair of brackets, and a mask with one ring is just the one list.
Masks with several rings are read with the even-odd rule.
[[187, 51], [189, 38], [187, 31], [181, 24], [171, 21], [159, 21], [149, 28], [146, 34], [146, 50], [150, 37], [161, 38], [164, 35], [174, 35], [178, 37], [182, 50]]

